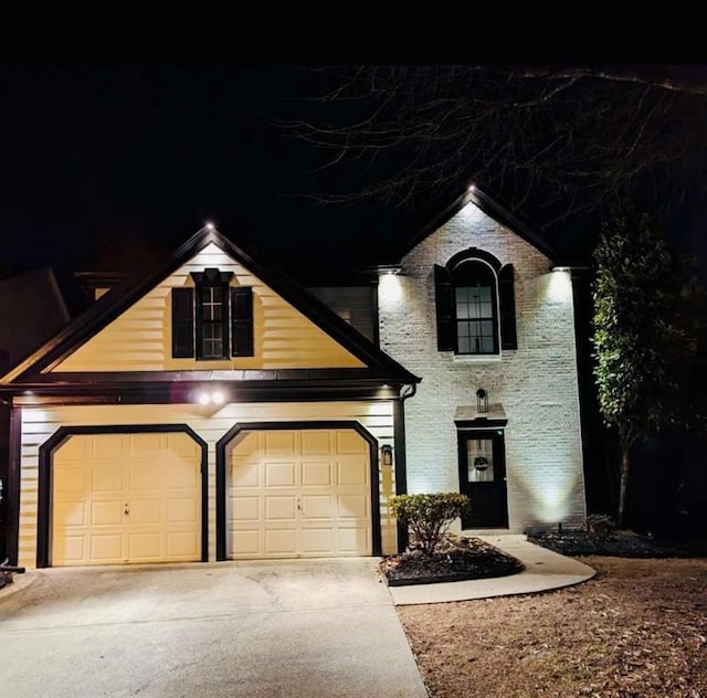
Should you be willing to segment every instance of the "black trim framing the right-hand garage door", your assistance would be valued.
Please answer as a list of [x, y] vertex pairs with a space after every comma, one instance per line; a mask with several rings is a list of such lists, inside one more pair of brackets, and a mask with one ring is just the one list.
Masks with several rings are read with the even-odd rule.
[[228, 560], [226, 557], [226, 521], [225, 521], [225, 496], [226, 496], [226, 455], [225, 450], [229, 444], [243, 432], [262, 432], [268, 430], [314, 430], [314, 429], [350, 429], [360, 434], [368, 443], [369, 461], [371, 469], [371, 547], [374, 557], [381, 554], [381, 531], [380, 531], [380, 483], [378, 477], [378, 441], [359, 422], [355, 421], [314, 421], [314, 422], [244, 422], [232, 426], [217, 442], [217, 560]]

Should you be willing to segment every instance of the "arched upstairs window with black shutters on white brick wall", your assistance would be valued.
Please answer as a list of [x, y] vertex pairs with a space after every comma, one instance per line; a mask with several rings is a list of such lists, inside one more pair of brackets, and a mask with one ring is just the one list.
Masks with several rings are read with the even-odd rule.
[[435, 265], [434, 283], [440, 351], [498, 356], [517, 348], [511, 264], [469, 248]]

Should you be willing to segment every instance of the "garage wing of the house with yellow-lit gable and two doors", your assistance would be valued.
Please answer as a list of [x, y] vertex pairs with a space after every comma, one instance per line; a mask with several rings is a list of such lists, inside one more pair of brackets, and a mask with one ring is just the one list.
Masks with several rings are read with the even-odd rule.
[[[1, 380], [29, 567], [381, 554], [419, 379], [204, 228]], [[379, 454], [398, 453], [395, 464]]]

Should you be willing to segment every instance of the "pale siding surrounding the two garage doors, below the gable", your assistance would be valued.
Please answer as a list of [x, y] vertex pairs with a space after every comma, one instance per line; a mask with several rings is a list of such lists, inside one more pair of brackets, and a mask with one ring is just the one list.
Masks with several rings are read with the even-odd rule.
[[[388, 401], [229, 404], [218, 411], [194, 404], [91, 405], [22, 408], [20, 564], [36, 561], [36, 514], [39, 447], [60, 426], [118, 424], [187, 424], [209, 444], [209, 559], [215, 560], [215, 444], [234, 424], [247, 422], [307, 422], [315, 420], [356, 421], [379, 445], [393, 442], [393, 411]], [[381, 466], [382, 551], [397, 549], [394, 520], [388, 512], [388, 497], [394, 493], [393, 468]]]

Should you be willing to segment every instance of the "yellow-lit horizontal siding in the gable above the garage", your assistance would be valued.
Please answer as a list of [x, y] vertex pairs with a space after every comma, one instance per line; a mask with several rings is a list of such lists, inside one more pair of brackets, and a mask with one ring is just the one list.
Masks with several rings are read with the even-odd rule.
[[[171, 357], [171, 289], [191, 286], [191, 272], [233, 272], [232, 286], [252, 286], [255, 356], [223, 361]], [[189, 371], [348, 368], [363, 363], [214, 244], [208, 245], [52, 371]]]

